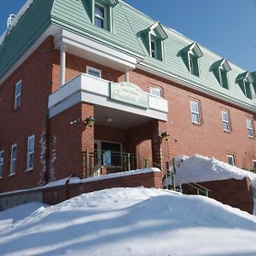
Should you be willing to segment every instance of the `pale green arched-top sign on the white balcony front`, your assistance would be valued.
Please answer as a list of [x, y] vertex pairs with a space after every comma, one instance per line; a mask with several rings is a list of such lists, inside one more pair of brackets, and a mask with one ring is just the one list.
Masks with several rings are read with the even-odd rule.
[[110, 98], [141, 108], [148, 108], [148, 94], [136, 84], [129, 82], [111, 83]]

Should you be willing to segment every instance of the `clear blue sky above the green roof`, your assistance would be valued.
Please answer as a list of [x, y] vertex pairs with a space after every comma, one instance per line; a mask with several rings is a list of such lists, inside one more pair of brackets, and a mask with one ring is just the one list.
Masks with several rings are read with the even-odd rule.
[[[41, 0], [47, 1], [47, 0]], [[125, 0], [154, 20], [243, 67], [256, 70], [254, 0]], [[0, 34], [26, 0], [1, 0]]]

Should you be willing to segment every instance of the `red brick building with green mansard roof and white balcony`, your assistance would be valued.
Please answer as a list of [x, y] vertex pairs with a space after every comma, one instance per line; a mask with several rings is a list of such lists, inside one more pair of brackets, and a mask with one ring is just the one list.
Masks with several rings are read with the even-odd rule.
[[123, 1], [28, 0], [0, 44], [0, 193], [181, 154], [256, 167], [256, 73]]

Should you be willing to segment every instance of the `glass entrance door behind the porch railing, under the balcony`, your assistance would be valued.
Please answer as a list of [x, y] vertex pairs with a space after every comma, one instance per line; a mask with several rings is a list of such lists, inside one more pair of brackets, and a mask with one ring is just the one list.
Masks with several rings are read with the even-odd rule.
[[96, 167], [104, 166], [107, 172], [118, 172], [121, 168], [121, 143], [95, 141], [95, 164]]

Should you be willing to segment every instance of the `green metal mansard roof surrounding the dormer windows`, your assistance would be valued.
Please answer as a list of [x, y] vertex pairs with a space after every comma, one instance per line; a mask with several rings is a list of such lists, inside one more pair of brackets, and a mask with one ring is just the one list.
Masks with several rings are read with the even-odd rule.
[[5, 38], [0, 48], [0, 78], [35, 42], [47, 26], [53, 24], [85, 38], [92, 38], [111, 48], [119, 49], [126, 54], [143, 56], [140, 67], [149, 67], [167, 76], [175, 76], [194, 84], [201, 90], [216, 93], [218, 96], [224, 96], [229, 100], [256, 109], [255, 90], [253, 90], [253, 100], [251, 100], [236, 84], [236, 78], [246, 70], [229, 63], [231, 68], [228, 73], [229, 90], [223, 88], [211, 69], [212, 65], [223, 60], [223, 57], [215, 55], [198, 44], [203, 56], [199, 59], [200, 77], [196, 77], [189, 73], [182, 57], [178, 55], [182, 49], [188, 48], [195, 42], [162, 25], [160, 28], [167, 36], [163, 41], [164, 61], [150, 57], [141, 35], [157, 21], [143, 15], [121, 0], [114, 1], [114, 3], [117, 4], [113, 6], [113, 31], [108, 32], [92, 24], [89, 0], [35, 0], [31, 8], [26, 11], [26, 14], [20, 18], [18, 24]]

